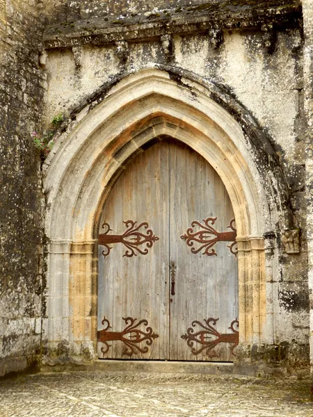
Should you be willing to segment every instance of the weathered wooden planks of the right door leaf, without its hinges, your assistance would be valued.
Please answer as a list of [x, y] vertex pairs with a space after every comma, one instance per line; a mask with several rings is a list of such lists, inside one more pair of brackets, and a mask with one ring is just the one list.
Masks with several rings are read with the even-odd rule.
[[[172, 144], [170, 158], [170, 260], [177, 264], [177, 293], [170, 304], [170, 359], [232, 361], [230, 346], [216, 346], [217, 357], [193, 354], [181, 338], [193, 320], [218, 318], [216, 330], [230, 333], [237, 312], [237, 265], [227, 242], [216, 243], [217, 256], [198, 254], [180, 238], [194, 220], [217, 217], [214, 228], [227, 231], [233, 218], [230, 199], [223, 182], [207, 161], [188, 147]], [[174, 155], [172, 157], [172, 155]], [[199, 247], [199, 244], [195, 244]], [[194, 327], [195, 331], [200, 327]], [[209, 336], [211, 340], [215, 336]], [[200, 349], [200, 343], [193, 347]], [[205, 351], [204, 351], [205, 352]], [[210, 352], [211, 353], [211, 352]]]

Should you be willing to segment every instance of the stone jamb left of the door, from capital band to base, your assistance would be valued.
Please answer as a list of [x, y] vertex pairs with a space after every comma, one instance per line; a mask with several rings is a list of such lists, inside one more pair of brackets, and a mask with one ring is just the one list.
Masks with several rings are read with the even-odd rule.
[[95, 240], [54, 239], [49, 245], [45, 363], [94, 359], [97, 332]]

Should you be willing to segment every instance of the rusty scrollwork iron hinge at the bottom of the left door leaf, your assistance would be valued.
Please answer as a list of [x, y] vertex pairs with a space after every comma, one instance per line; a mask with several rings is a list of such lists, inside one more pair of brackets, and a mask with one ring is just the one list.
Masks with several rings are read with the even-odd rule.
[[[111, 347], [108, 343], [109, 341], [122, 341], [125, 344], [123, 354], [127, 354], [128, 356], [136, 352], [147, 353], [148, 347], [140, 347], [139, 343], [145, 341], [146, 345], [150, 346], [152, 345], [153, 339], [159, 337], [159, 334], [155, 334], [151, 327], [147, 327], [147, 320], [139, 320], [136, 323], [136, 318], [123, 317], [122, 319], [125, 321], [125, 325], [127, 325], [122, 332], [108, 332], [108, 329], [112, 327], [110, 326], [109, 320], [104, 316], [102, 320], [104, 329], [98, 331], [97, 338], [98, 342], [102, 342], [105, 345], [105, 347], [101, 348], [103, 355], [109, 352], [109, 348]], [[146, 329], [138, 329], [141, 325], [146, 326]]]

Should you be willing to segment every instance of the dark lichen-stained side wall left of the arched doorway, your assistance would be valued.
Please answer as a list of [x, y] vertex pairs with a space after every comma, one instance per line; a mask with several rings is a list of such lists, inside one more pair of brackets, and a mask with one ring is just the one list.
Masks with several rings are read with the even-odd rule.
[[37, 366], [42, 317], [40, 1], [0, 1], [0, 376]]

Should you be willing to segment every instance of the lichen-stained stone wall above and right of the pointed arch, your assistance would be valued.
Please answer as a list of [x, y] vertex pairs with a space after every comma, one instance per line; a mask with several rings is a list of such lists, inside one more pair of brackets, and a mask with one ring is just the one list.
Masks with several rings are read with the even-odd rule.
[[[141, 15], [138, 2], [134, 11], [132, 6], [125, 9], [122, 2], [111, 9], [110, 2], [106, 2], [105, 8], [99, 7], [100, 3], [88, 2], [86, 6], [77, 1], [74, 15], [70, 15], [74, 7], [64, 6], [61, 15], [47, 26], [45, 70], [49, 87], [45, 123], [49, 124], [58, 113], [75, 113], [74, 108], [82, 108], [88, 97], [114, 77], [153, 63], [170, 64], [213, 81], [243, 104], [280, 160], [289, 188], [289, 228], [300, 228], [300, 253], [287, 254], [282, 242], [284, 230], [277, 218], [273, 236], [267, 236], [278, 248], [270, 256], [273, 276], [266, 284], [273, 296], [267, 309], [274, 317], [274, 334], [268, 334], [268, 344], [248, 347], [248, 354], [243, 350], [242, 361], [252, 352], [255, 363], [282, 363], [294, 370], [307, 366], [303, 38], [298, 3], [289, 2], [294, 7], [291, 15], [286, 6], [274, 11], [268, 8], [263, 15], [259, 11], [255, 17], [253, 9], [257, 3], [252, 2], [251, 10], [246, 4], [246, 15], [240, 7], [234, 8], [228, 19], [232, 9], [221, 7], [216, 14], [212, 3], [202, 8], [195, 3], [190, 7], [182, 4], [182, 9], [171, 9], [169, 13], [160, 12], [163, 4], [159, 4], [158, 10], [152, 5], [149, 13]], [[220, 2], [225, 3], [230, 2]], [[279, 2], [271, 3], [277, 6]], [[148, 10], [147, 3], [140, 5], [141, 11]], [[170, 7], [170, 2], [164, 3], [164, 7]], [[196, 13], [200, 15], [197, 17]], [[190, 19], [202, 23], [193, 24]]]

